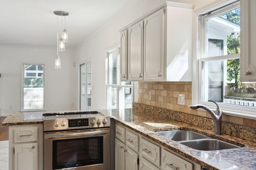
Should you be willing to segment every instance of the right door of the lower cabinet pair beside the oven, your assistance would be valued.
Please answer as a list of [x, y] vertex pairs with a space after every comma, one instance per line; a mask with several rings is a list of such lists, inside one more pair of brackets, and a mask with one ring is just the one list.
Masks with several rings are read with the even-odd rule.
[[125, 170], [138, 170], [138, 154], [126, 147], [125, 150]]

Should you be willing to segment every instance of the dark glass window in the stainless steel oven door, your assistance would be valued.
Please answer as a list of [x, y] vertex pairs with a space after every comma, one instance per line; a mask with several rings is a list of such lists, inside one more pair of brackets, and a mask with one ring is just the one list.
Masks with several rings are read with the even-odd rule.
[[56, 140], [52, 145], [53, 169], [103, 163], [103, 137]]

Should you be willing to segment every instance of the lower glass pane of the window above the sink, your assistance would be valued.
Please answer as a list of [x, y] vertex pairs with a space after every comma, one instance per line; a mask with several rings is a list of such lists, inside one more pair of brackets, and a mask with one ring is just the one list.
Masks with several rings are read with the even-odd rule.
[[203, 62], [202, 100], [256, 107], [256, 82], [240, 82], [240, 59]]

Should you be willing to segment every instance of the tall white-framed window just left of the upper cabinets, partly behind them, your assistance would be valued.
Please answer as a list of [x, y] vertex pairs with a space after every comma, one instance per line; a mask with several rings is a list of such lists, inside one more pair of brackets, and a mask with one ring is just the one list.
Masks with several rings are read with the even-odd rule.
[[120, 48], [107, 52], [107, 108], [132, 108], [132, 82], [120, 82]]

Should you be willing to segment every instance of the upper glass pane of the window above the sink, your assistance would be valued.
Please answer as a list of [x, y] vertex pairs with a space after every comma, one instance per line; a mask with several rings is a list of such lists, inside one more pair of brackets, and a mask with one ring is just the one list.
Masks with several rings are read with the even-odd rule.
[[240, 53], [240, 8], [206, 20], [206, 57]]

